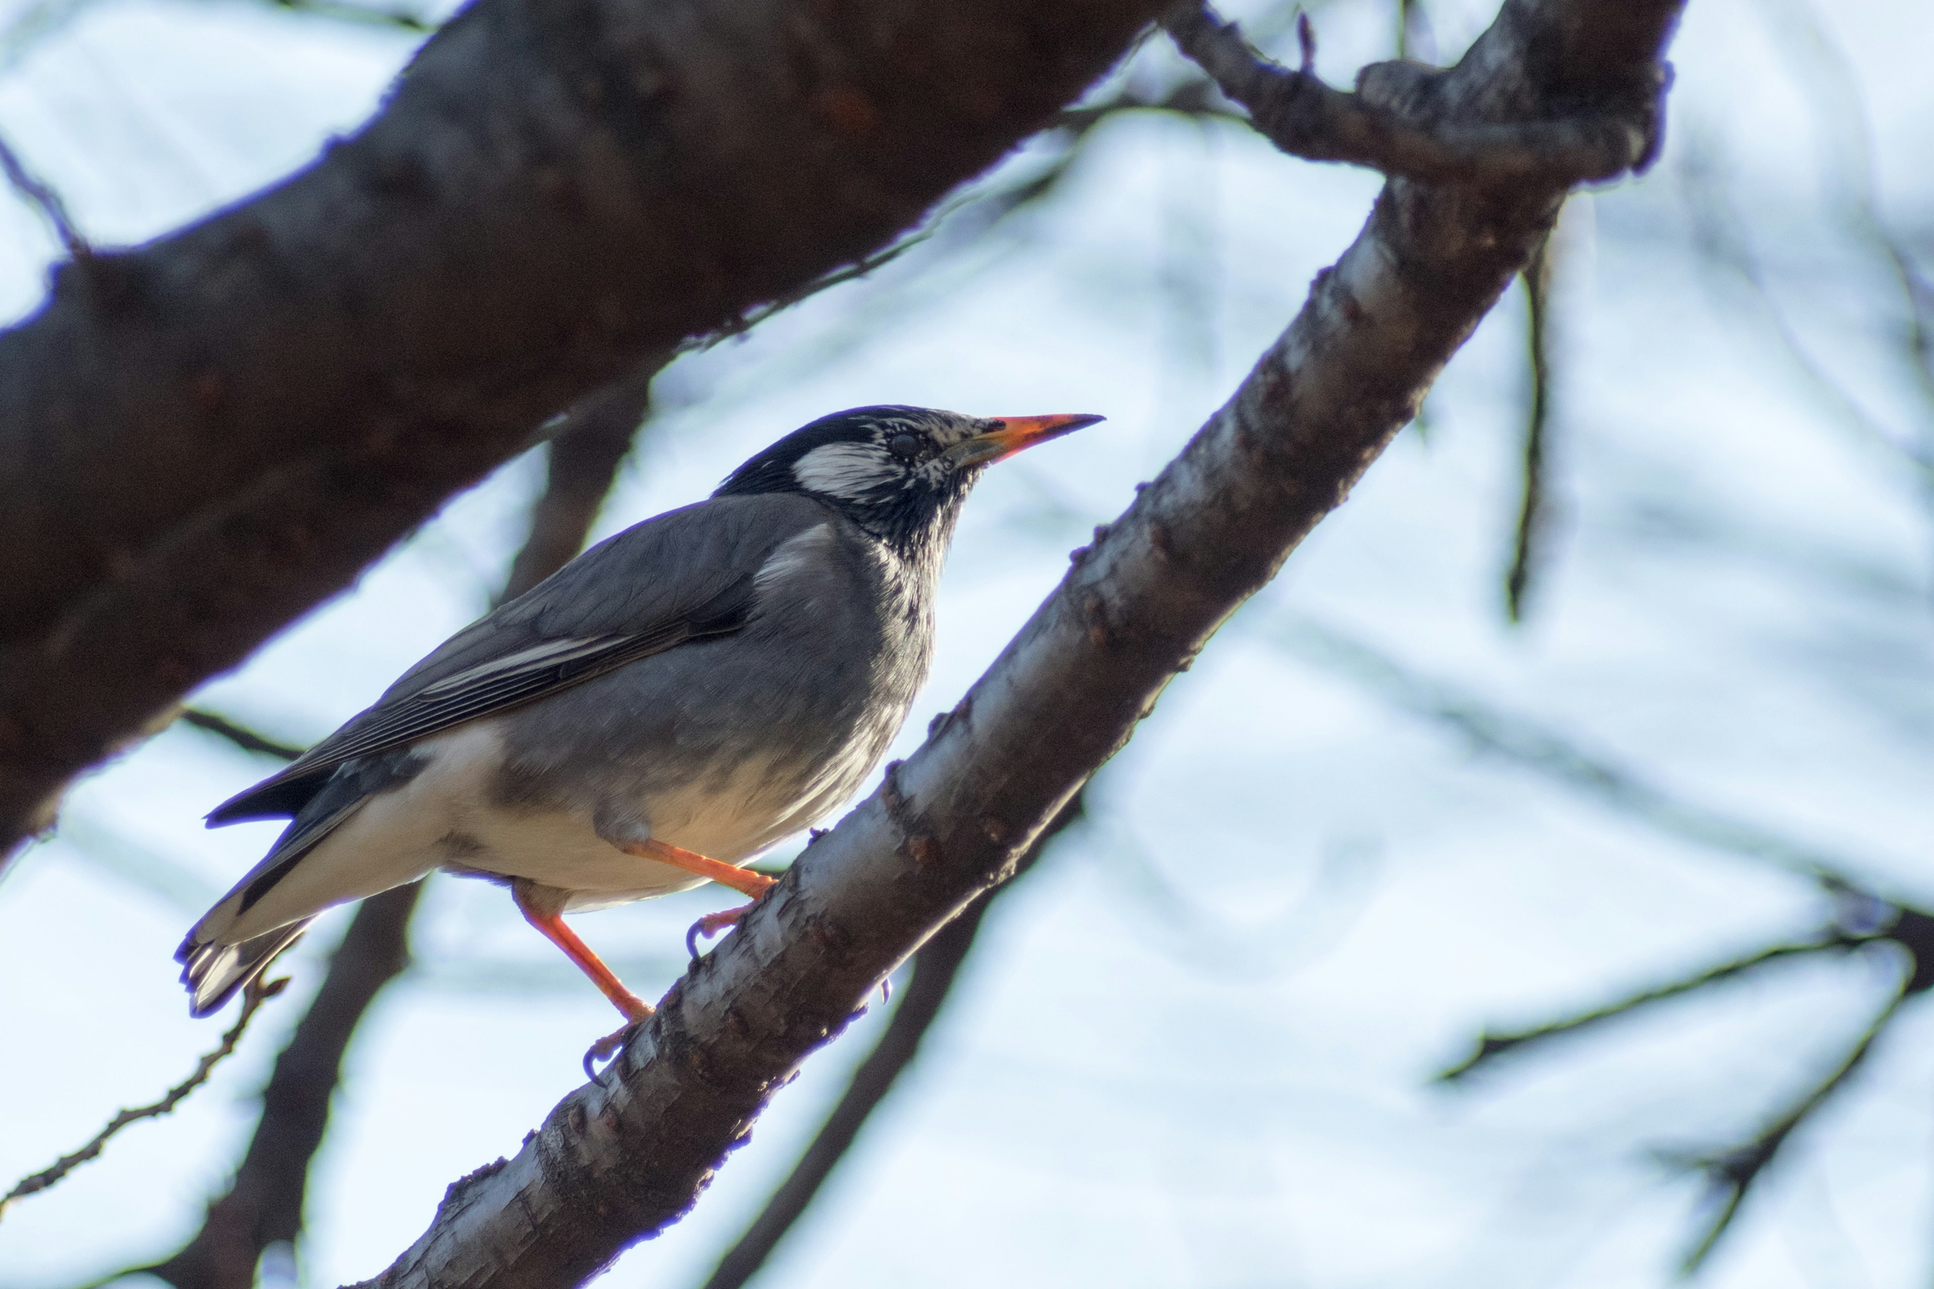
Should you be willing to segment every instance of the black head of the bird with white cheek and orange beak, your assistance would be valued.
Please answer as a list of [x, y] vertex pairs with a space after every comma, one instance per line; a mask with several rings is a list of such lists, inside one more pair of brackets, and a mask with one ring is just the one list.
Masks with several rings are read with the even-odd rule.
[[834, 412], [739, 466], [714, 497], [806, 493], [901, 549], [944, 543], [982, 470], [1099, 419], [894, 406]]

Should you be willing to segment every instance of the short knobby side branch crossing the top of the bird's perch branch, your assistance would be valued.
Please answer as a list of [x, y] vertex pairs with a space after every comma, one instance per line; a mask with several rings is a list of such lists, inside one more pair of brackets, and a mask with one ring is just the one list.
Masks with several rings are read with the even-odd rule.
[[1249, 108], [1263, 137], [1304, 160], [1342, 160], [1427, 184], [1510, 186], [1536, 178], [1570, 186], [1644, 168], [1657, 151], [1657, 122], [1632, 112], [1650, 106], [1648, 95], [1596, 118], [1468, 124], [1435, 110], [1435, 85], [1445, 73], [1423, 64], [1363, 68], [1356, 93], [1325, 85], [1315, 75], [1307, 15], [1298, 23], [1304, 58], [1294, 72], [1259, 54], [1207, 4], [1182, 0], [1162, 25], [1224, 95]]

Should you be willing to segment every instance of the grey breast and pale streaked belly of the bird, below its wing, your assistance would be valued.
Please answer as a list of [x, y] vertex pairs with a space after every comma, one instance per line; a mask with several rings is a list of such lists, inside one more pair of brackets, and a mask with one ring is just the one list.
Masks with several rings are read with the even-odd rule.
[[743, 630], [507, 713], [493, 796], [727, 862], [806, 827], [905, 721], [932, 659], [934, 574], [828, 510], [764, 562]]

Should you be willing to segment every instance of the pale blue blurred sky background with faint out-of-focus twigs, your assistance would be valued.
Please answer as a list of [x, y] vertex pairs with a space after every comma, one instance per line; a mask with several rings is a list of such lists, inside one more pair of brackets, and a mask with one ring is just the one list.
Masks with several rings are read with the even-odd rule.
[[[1294, 62], [1288, 8], [1226, 12]], [[91, 240], [141, 242], [354, 128], [445, 15], [8, 0], [0, 135]], [[1495, 4], [1311, 15], [1348, 83], [1454, 60]], [[756, 1283], [1934, 1279], [1934, 8], [1692, 0], [1671, 58], [1663, 160], [1570, 201], [1541, 274], [992, 901]], [[673, 361], [594, 535], [837, 408], [1106, 414], [975, 493], [905, 754], [1377, 187], [1276, 155], [1151, 39], [892, 263]], [[58, 253], [0, 201], [0, 315]], [[543, 487], [536, 448], [193, 705], [329, 732], [489, 607]], [[0, 887], [0, 1189], [219, 1042], [232, 1009], [190, 1020], [170, 953], [277, 829], [203, 812], [275, 767], [178, 723]], [[731, 899], [578, 930], [656, 997]], [[282, 960], [207, 1088], [6, 1214], [0, 1287], [195, 1233], [346, 924]], [[611, 1028], [495, 887], [431, 879], [412, 937], [265, 1283], [383, 1270]], [[704, 1285], [892, 1009], [605, 1283]]]

